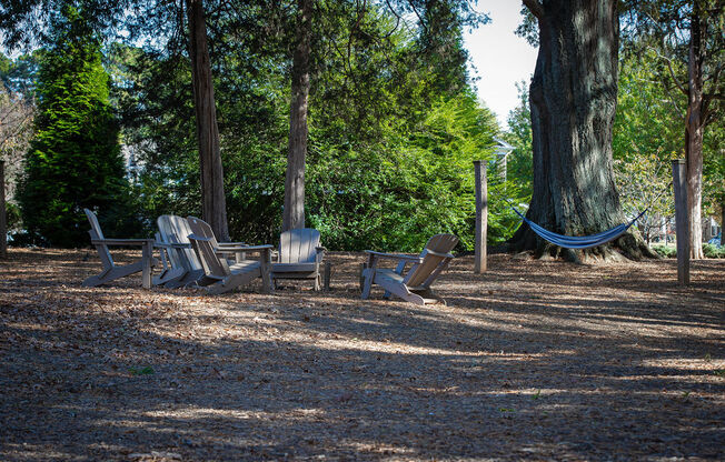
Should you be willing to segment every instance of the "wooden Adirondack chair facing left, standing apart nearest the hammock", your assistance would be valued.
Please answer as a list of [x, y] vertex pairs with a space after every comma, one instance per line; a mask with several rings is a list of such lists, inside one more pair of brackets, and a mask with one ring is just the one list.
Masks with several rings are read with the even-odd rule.
[[[362, 271], [362, 299], [370, 297], [370, 289], [376, 283], [385, 289], [385, 297], [397, 295], [415, 304], [441, 302], [440, 297], [430, 290], [430, 284], [448, 267], [454, 258], [450, 251], [458, 243], [453, 234], [436, 234], [428, 240], [418, 257], [396, 253], [381, 253], [366, 250], [368, 262]], [[395, 270], [378, 268], [378, 260], [393, 259], [399, 263]], [[405, 268], [411, 263], [406, 273]]]

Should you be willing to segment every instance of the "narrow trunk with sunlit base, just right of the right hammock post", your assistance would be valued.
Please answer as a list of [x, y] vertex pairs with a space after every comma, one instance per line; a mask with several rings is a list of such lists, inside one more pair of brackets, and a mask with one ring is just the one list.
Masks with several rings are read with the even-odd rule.
[[687, 160], [687, 207], [689, 208], [689, 248], [693, 259], [703, 259], [703, 47], [699, 2], [695, 2], [689, 26], [687, 62], [687, 120], [685, 159]]

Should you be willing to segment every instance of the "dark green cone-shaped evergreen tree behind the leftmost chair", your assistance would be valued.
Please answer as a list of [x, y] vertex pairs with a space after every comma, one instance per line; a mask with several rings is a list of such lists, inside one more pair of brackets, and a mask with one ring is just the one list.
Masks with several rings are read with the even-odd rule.
[[98, 37], [72, 8], [53, 18], [52, 29], [19, 199], [31, 239], [78, 247], [88, 242], [83, 208], [100, 210], [109, 234], [131, 232], [133, 220]]

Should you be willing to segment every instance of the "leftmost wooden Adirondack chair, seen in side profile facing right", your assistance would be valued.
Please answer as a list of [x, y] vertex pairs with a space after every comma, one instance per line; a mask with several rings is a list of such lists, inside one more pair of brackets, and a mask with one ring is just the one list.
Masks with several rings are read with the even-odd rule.
[[[90, 222], [91, 229], [88, 232], [91, 237], [91, 243], [96, 247], [98, 257], [101, 259], [103, 271], [101, 271], [99, 274], [86, 279], [82, 285], [92, 288], [141, 271], [141, 281], [143, 288], [150, 289], [151, 268], [157, 264], [157, 261], [152, 254], [153, 239], [106, 239], [103, 237], [103, 232], [101, 231], [101, 227], [98, 223], [96, 213], [91, 212], [88, 209], [83, 209], [83, 211], [86, 212], [86, 217], [88, 217], [88, 221]], [[140, 245], [141, 260], [127, 265], [118, 267], [113, 262], [111, 252], [108, 250], [109, 245]]]

